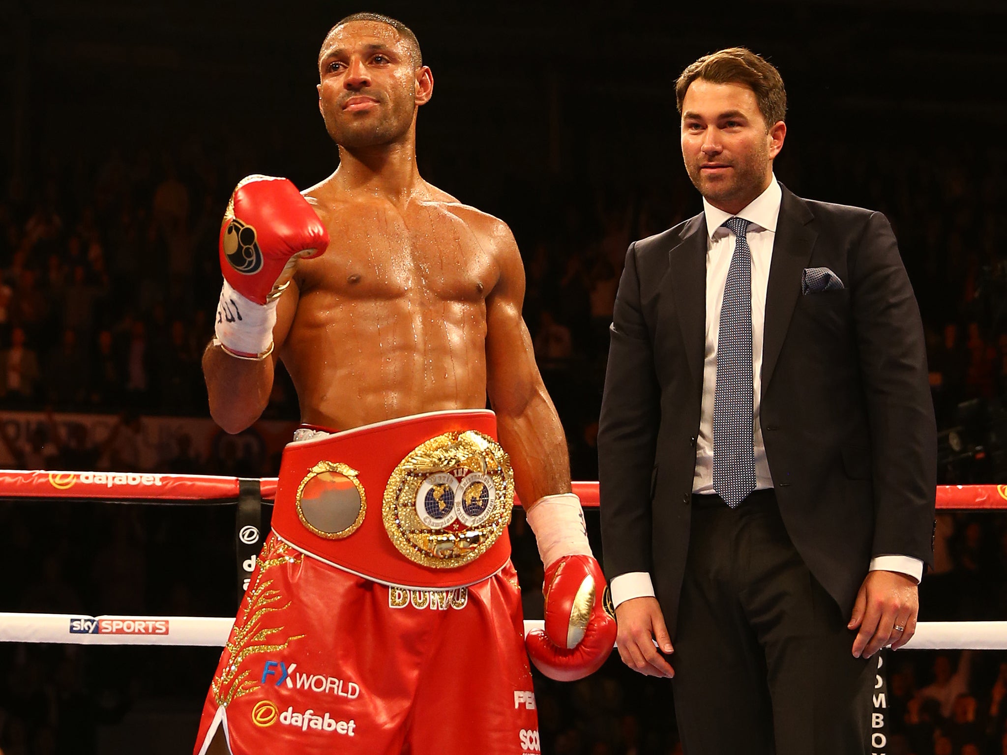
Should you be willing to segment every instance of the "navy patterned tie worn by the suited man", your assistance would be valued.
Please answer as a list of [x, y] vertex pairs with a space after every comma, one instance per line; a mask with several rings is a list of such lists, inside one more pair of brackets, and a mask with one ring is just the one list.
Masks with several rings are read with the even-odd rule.
[[755, 489], [752, 446], [752, 257], [748, 220], [731, 217], [734, 256], [724, 284], [713, 395], [713, 487], [731, 508]]

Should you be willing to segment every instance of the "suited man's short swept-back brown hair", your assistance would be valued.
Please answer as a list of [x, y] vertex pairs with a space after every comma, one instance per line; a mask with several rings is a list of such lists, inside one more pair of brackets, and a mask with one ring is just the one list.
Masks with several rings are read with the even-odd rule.
[[776, 67], [761, 55], [756, 55], [747, 47], [727, 47], [726, 49], [703, 55], [699, 60], [682, 71], [675, 83], [675, 97], [679, 115], [686, 99], [689, 85], [697, 79], [712, 84], [740, 84], [755, 93], [759, 112], [765, 119], [766, 128], [786, 115], [786, 90]]

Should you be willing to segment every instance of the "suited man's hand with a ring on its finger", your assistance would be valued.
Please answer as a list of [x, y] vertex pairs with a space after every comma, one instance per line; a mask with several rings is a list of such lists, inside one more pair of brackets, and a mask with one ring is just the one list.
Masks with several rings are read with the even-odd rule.
[[860, 627], [853, 640], [853, 657], [869, 658], [889, 642], [897, 650], [915, 633], [918, 612], [914, 579], [898, 572], [868, 572], [847, 624], [849, 629]]

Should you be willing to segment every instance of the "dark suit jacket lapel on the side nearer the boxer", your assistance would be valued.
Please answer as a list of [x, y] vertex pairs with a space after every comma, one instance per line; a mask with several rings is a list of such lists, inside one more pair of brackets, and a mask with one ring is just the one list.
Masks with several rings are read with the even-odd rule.
[[706, 217], [700, 213], [683, 229], [682, 242], [669, 253], [669, 279], [686, 360], [697, 386], [703, 385], [706, 342]]

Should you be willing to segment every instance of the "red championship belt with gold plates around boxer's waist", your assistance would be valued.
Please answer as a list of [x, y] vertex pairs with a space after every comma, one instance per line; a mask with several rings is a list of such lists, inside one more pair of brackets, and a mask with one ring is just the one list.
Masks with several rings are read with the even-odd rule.
[[493, 413], [432, 412], [289, 443], [273, 530], [377, 582], [462, 587], [510, 558], [514, 493]]

